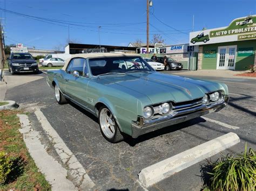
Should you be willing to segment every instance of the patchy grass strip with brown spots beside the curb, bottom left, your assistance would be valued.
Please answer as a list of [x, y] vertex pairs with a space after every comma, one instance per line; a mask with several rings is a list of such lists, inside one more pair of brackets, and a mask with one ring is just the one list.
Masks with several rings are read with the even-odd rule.
[[[0, 111], [0, 152], [7, 153], [12, 161], [11, 172], [0, 190], [50, 190], [51, 186], [39, 172], [23, 141], [18, 111]], [[1, 165], [1, 164], [0, 164]]]

